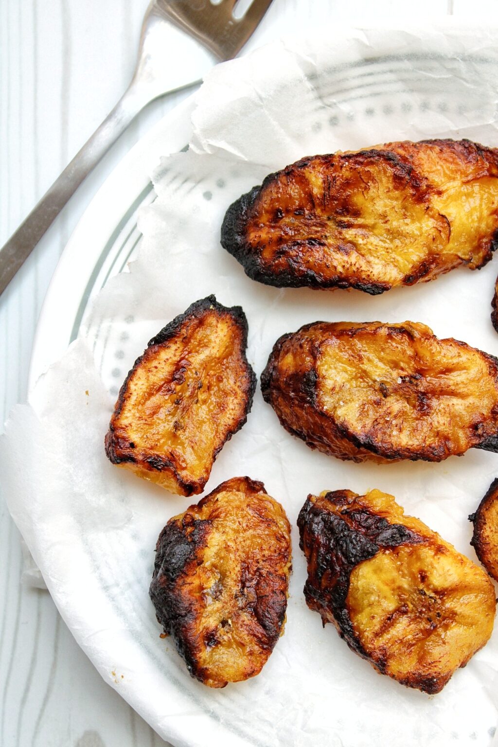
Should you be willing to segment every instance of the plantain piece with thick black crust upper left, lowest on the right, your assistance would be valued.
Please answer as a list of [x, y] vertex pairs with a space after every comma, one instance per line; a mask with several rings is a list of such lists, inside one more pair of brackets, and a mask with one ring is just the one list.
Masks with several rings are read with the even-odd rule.
[[488, 576], [392, 495], [308, 495], [297, 524], [308, 607], [382, 675], [440, 692], [491, 636]]

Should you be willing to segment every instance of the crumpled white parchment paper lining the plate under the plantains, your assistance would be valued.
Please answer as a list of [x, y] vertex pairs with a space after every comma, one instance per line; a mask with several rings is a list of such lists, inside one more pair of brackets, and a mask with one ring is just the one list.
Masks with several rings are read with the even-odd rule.
[[102, 676], [175, 745], [493, 741], [498, 631], [435, 697], [381, 677], [305, 606], [295, 525], [310, 492], [375, 487], [475, 558], [467, 515], [497, 476], [496, 454], [470, 450], [441, 464], [340, 462], [286, 433], [258, 388], [206, 492], [248, 474], [284, 505], [293, 525], [287, 625], [261, 675], [217, 691], [190, 679], [172, 642], [159, 638], [148, 597], [158, 533], [191, 501], [113, 467], [103, 439], [117, 389], [149, 338], [211, 293], [246, 311], [258, 375], [279, 335], [318, 319], [422, 321], [441, 338], [497, 355], [493, 263], [380, 297], [278, 290], [247, 278], [219, 241], [228, 205], [303, 155], [423, 137], [498, 146], [497, 49], [492, 30], [342, 30], [217, 66], [199, 92], [190, 150], [163, 159], [154, 175], [158, 199], [141, 214], [144, 241], [131, 273], [111, 280], [81, 338], [10, 416], [2, 487], [60, 613]]

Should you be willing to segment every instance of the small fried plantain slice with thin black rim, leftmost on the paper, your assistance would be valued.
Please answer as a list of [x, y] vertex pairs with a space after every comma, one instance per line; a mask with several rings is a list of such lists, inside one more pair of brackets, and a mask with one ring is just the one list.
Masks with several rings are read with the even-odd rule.
[[246, 346], [243, 310], [214, 296], [161, 329], [119, 391], [105, 437], [111, 462], [172, 493], [201, 493], [252, 406], [256, 377]]

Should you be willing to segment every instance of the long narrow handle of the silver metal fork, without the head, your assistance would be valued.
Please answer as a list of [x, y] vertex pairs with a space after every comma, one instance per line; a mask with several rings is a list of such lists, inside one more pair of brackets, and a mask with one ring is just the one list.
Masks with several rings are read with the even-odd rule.
[[93, 133], [52, 187], [43, 195], [7, 244], [0, 249], [0, 294], [3, 293], [19, 267], [33, 251], [40, 238], [52, 226], [57, 215], [78, 189], [81, 182], [108, 152], [111, 145], [128, 127], [131, 120], [155, 94], [131, 81], [111, 113]]

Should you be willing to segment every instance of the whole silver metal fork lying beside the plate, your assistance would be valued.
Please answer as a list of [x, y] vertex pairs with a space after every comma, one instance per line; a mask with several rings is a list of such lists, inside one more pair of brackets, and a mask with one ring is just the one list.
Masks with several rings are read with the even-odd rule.
[[[236, 2], [221, 0], [214, 5], [211, 0], [152, 0], [143, 19], [137, 64], [128, 90], [0, 249], [0, 294], [139, 111], [165, 93], [199, 83], [214, 63], [234, 58], [272, 0], [253, 0], [240, 19], [233, 15]], [[173, 44], [178, 46], [178, 36], [182, 37], [182, 56], [174, 61], [170, 49]]]

